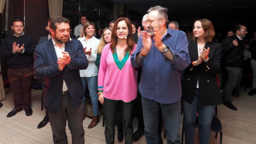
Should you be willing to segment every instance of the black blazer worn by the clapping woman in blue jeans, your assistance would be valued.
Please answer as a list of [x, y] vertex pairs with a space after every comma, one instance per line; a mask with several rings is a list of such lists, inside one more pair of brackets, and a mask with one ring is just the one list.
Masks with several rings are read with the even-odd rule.
[[218, 85], [218, 71], [221, 65], [221, 47], [219, 43], [211, 42], [205, 44], [205, 49], [210, 47], [209, 60], [202, 62], [198, 66], [193, 66], [192, 62], [198, 59], [197, 41], [190, 41], [188, 45], [191, 59], [190, 65], [185, 69], [182, 78], [182, 100], [192, 103], [197, 79], [199, 85], [199, 102], [201, 105], [222, 104], [220, 89]]

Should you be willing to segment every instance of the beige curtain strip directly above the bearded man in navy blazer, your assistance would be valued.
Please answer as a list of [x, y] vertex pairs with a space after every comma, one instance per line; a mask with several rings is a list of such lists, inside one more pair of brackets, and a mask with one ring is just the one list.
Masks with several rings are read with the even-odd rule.
[[62, 16], [63, 0], [48, 0], [50, 18]]

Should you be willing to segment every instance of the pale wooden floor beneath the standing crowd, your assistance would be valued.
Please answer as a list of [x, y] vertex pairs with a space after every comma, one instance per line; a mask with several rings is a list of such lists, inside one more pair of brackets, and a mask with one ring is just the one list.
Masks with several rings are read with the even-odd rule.
[[[222, 123], [223, 129], [223, 143], [255, 143], [256, 137], [256, 95], [248, 96], [247, 93], [239, 89], [240, 97], [231, 97], [231, 101], [238, 111], [230, 110], [227, 107], [218, 106], [218, 117]], [[6, 99], [2, 101], [4, 106], [0, 109], [0, 143], [53, 143], [52, 131], [50, 123], [42, 129], [37, 129], [37, 125], [45, 116], [45, 110], [41, 111], [41, 94], [42, 91], [32, 92], [32, 109], [33, 115], [26, 116], [25, 111], [21, 111], [17, 115], [7, 118], [6, 115], [13, 109], [13, 94], [12, 91], [6, 93]], [[183, 119], [183, 116], [181, 117]], [[92, 129], [88, 129], [91, 119], [85, 118], [84, 130], [85, 130], [85, 143], [106, 143], [104, 130], [102, 127], [102, 117], [97, 126]], [[137, 118], [134, 118], [134, 131], [137, 130]], [[182, 129], [182, 122], [180, 125], [180, 135]], [[71, 143], [71, 134], [66, 128], [67, 137], [69, 143]], [[198, 129], [196, 129], [195, 143], [198, 142]], [[218, 139], [214, 139], [214, 134], [211, 133], [210, 143], [219, 143]], [[162, 132], [162, 136], [164, 131]], [[116, 130], [115, 143], [119, 143], [117, 140]], [[121, 143], [124, 143], [121, 142]], [[145, 136], [143, 136], [138, 142], [134, 143], [146, 143]], [[166, 143], [166, 139], [164, 139]]]

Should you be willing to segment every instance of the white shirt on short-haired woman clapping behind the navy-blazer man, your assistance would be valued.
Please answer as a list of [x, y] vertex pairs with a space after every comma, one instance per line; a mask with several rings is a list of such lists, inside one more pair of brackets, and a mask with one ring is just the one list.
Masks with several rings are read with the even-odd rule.
[[95, 65], [95, 60], [97, 58], [97, 47], [100, 43], [100, 40], [95, 38], [94, 36], [91, 39], [88, 39], [88, 41], [85, 41], [85, 37], [78, 38], [78, 40], [82, 43], [83, 47], [86, 47], [86, 51], [90, 50], [92, 48], [92, 54], [86, 55], [87, 60], [89, 61], [89, 65], [87, 69], [82, 69], [80, 71], [81, 77], [92, 77], [92, 76], [98, 76], [99, 68]]

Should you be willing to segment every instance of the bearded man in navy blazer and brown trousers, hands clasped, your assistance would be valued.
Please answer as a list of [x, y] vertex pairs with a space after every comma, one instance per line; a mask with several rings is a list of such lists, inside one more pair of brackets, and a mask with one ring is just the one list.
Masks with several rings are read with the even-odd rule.
[[89, 61], [82, 44], [69, 40], [70, 21], [55, 17], [50, 24], [52, 38], [37, 45], [34, 76], [44, 79], [43, 101], [49, 111], [54, 143], [68, 143], [66, 122], [72, 143], [84, 143], [83, 84], [79, 69], [86, 69]]

